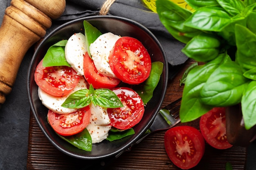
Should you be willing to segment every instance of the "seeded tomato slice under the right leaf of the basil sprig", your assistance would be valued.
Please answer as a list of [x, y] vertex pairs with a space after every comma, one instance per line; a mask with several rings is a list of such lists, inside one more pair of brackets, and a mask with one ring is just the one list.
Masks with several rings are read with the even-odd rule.
[[113, 92], [121, 100], [124, 107], [108, 108], [110, 124], [121, 130], [135, 126], [144, 114], [145, 109], [142, 99], [138, 93], [127, 87], [115, 88]]

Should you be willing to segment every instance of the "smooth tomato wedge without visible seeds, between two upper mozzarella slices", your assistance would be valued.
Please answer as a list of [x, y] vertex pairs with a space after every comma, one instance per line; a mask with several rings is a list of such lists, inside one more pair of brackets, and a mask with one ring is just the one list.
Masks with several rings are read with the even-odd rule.
[[94, 88], [112, 89], [121, 82], [120, 79], [108, 77], [99, 73], [88, 53], [85, 53], [83, 57], [83, 72], [87, 82], [92, 84]]

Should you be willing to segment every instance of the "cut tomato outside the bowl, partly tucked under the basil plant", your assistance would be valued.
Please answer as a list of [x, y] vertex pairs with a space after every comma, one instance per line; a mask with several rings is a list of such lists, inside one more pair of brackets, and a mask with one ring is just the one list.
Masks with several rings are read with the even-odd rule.
[[213, 108], [200, 118], [200, 130], [205, 141], [214, 148], [227, 149], [225, 108]]

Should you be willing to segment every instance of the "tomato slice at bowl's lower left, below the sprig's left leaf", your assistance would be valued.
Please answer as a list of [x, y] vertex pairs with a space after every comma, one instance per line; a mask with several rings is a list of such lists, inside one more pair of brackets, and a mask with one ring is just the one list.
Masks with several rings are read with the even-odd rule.
[[55, 132], [63, 136], [70, 136], [82, 132], [89, 124], [90, 107], [86, 106], [76, 112], [61, 115], [49, 110], [47, 118]]

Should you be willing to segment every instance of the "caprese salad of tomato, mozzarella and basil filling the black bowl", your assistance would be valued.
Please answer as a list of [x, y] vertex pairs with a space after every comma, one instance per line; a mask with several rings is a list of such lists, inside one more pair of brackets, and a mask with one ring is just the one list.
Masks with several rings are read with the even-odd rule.
[[134, 134], [163, 63], [151, 63], [135, 38], [102, 34], [89, 22], [83, 24], [85, 34], [74, 33], [48, 49], [34, 77], [54, 131], [90, 151], [92, 144]]

